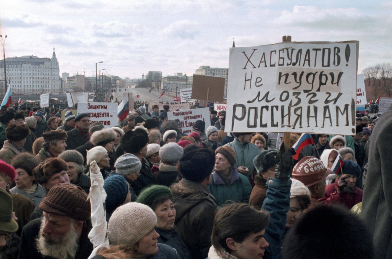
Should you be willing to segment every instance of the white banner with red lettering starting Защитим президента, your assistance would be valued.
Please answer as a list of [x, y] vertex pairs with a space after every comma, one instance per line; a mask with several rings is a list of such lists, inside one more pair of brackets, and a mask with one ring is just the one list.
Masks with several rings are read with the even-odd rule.
[[118, 124], [117, 106], [117, 103], [79, 103], [78, 114], [89, 113], [90, 125], [100, 121], [105, 128], [111, 128]]

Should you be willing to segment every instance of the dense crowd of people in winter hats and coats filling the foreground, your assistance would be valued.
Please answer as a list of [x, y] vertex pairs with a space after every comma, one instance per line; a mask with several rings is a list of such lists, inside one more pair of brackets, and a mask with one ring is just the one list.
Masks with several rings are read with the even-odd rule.
[[294, 156], [301, 133], [225, 133], [211, 109], [186, 135], [163, 108], [105, 128], [2, 107], [0, 258], [392, 258], [391, 109]]

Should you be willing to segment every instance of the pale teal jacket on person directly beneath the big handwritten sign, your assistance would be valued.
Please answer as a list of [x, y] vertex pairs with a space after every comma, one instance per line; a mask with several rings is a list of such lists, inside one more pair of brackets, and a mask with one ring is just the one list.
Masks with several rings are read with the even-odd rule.
[[236, 167], [242, 165], [249, 169], [248, 174], [245, 176], [250, 181], [250, 176], [252, 176], [254, 171], [253, 159], [261, 153], [260, 149], [252, 143], [244, 145], [238, 140], [238, 138], [234, 138], [232, 142], [225, 146], [230, 146], [234, 149], [234, 151], [236, 151]]

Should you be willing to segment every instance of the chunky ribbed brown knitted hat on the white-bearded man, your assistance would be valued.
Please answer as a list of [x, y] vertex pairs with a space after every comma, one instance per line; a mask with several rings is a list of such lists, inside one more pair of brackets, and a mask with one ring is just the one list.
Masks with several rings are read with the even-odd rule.
[[69, 216], [80, 221], [86, 221], [91, 214], [87, 194], [71, 183], [54, 185], [38, 207], [47, 213]]

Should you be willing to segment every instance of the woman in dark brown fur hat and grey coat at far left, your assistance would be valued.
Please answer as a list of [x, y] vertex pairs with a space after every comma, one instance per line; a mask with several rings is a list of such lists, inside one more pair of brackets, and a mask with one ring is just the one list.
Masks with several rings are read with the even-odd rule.
[[45, 188], [34, 180], [33, 170], [40, 162], [30, 153], [20, 153], [11, 160], [11, 165], [16, 170], [16, 186], [9, 190], [26, 196], [37, 206], [46, 196]]

